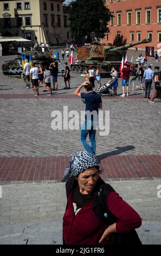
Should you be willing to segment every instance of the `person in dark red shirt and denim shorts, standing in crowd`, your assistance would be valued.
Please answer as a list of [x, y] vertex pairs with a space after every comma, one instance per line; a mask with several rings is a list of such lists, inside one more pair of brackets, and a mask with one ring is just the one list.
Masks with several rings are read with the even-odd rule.
[[125, 86], [127, 88], [127, 93], [126, 96], [128, 96], [128, 86], [129, 86], [129, 78], [130, 78], [130, 63], [125, 64], [124, 63], [124, 68], [121, 71], [121, 75], [122, 75], [122, 88], [123, 88], [123, 94], [121, 94], [120, 96], [125, 97]]

